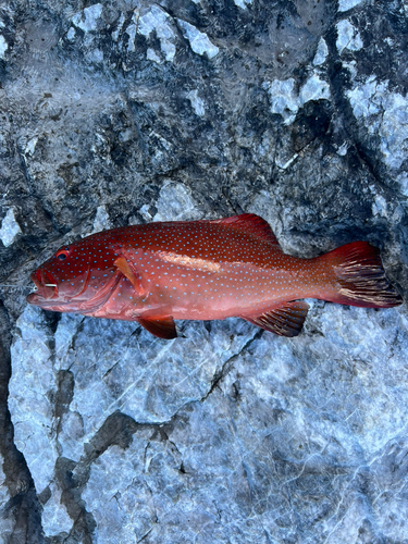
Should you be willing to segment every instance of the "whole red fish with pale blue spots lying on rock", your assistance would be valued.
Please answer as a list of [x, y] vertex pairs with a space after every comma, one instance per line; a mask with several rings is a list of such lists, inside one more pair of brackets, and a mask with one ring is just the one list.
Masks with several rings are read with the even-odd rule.
[[166, 339], [177, 336], [174, 320], [232, 317], [294, 337], [308, 313], [305, 298], [403, 304], [376, 247], [360, 240], [312, 259], [293, 257], [252, 213], [102, 231], [61, 247], [30, 279], [32, 305], [136, 321]]

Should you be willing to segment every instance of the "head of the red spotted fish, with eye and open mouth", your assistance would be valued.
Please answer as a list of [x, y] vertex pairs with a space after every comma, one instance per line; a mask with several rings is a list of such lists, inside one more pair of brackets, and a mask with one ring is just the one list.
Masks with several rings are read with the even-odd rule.
[[36, 292], [27, 301], [46, 310], [90, 311], [101, 292], [118, 283], [115, 259], [114, 247], [98, 235], [63, 246], [30, 275]]

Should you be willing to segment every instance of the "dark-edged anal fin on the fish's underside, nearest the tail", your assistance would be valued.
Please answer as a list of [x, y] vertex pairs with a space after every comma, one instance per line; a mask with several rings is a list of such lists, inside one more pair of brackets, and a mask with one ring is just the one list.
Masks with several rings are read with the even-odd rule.
[[240, 317], [280, 336], [297, 336], [304, 326], [308, 310], [309, 305], [295, 300], [255, 318]]

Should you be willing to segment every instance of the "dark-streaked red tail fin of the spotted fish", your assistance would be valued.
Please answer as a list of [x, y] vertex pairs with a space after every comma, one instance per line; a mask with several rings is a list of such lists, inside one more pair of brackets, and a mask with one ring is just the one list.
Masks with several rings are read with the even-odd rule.
[[[331, 293], [324, 299], [363, 308], [391, 308], [403, 298], [385, 276], [380, 249], [368, 242], [346, 244], [318, 259], [334, 272]], [[334, 293], [333, 293], [334, 290]]]

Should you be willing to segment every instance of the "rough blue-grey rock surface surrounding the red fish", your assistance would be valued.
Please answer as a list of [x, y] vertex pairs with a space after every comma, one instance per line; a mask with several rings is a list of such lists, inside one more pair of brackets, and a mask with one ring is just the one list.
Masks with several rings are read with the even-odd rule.
[[406, 297], [407, 18], [399, 0], [1, 4], [1, 544], [408, 543], [405, 305], [165, 342], [25, 302], [79, 236], [242, 211], [301, 257], [371, 242]]

